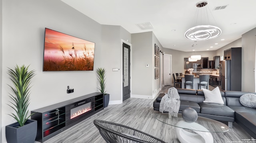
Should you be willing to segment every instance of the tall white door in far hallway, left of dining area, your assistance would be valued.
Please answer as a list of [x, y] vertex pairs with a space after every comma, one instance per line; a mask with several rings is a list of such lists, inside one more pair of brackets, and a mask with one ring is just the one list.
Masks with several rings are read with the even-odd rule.
[[171, 85], [172, 81], [172, 55], [164, 54], [164, 86]]

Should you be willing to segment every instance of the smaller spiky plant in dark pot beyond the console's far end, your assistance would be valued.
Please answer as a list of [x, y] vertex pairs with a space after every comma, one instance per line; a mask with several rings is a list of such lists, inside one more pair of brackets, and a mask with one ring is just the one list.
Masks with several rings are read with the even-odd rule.
[[108, 106], [109, 103], [109, 94], [106, 93], [105, 88], [106, 88], [106, 70], [104, 68], [98, 68], [97, 69], [97, 76], [98, 76], [98, 83], [99, 87], [98, 90], [100, 93], [104, 94], [104, 108]]

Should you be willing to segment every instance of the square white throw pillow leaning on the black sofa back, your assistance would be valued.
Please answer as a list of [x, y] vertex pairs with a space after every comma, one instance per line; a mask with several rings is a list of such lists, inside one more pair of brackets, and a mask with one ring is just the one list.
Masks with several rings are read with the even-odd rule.
[[219, 87], [214, 88], [212, 91], [205, 88], [202, 88], [202, 90], [204, 92], [204, 102], [224, 104]]

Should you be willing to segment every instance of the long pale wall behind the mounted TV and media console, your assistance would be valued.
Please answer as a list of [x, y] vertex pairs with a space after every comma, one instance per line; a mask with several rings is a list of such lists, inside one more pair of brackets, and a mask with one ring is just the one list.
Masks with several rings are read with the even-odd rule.
[[[15, 120], [6, 104], [12, 84], [7, 67], [30, 65], [36, 70], [32, 79], [29, 110], [62, 102], [96, 92], [96, 68], [102, 66], [101, 25], [60, 0], [4, 0], [2, 2], [2, 45], [0, 46], [0, 75], [2, 78], [2, 142], [6, 142], [5, 126]], [[96, 43], [94, 71], [43, 72], [44, 28], [48, 27]], [[107, 51], [109, 52], [109, 51]], [[74, 93], [67, 94], [67, 86]]]

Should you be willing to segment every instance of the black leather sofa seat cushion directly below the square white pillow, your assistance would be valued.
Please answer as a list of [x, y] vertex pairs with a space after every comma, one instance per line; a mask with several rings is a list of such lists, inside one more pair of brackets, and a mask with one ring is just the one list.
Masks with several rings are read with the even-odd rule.
[[199, 106], [201, 107], [201, 114], [211, 114], [228, 117], [235, 116], [234, 110], [224, 104], [201, 102], [199, 103]]

